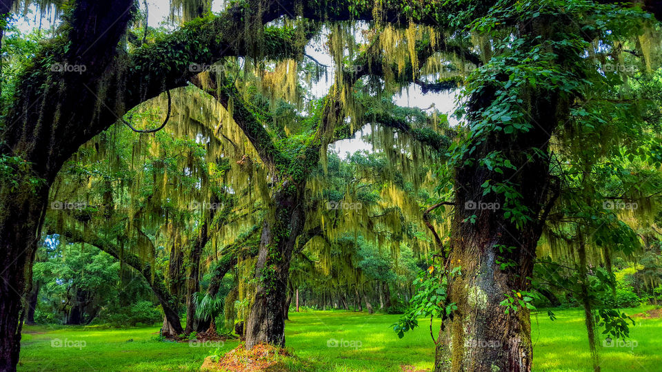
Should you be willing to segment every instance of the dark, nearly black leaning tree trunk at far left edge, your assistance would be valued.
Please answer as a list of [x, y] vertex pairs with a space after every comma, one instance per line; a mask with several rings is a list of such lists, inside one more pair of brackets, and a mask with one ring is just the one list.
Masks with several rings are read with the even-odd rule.
[[97, 89], [132, 8], [130, 0], [77, 1], [70, 17], [70, 48], [57, 50], [53, 57], [54, 63], [85, 65], [86, 74], [63, 72], [57, 83], [46, 83], [49, 66], [39, 61], [26, 72], [6, 118], [0, 152], [19, 156], [26, 166], [14, 169], [14, 182], [0, 185], [0, 371], [14, 371], [18, 362], [26, 265], [41, 236], [48, 189], [79, 145], [114, 121], [106, 118], [107, 124], [99, 128], [101, 120], [94, 118], [93, 108], [97, 99], [87, 87]]

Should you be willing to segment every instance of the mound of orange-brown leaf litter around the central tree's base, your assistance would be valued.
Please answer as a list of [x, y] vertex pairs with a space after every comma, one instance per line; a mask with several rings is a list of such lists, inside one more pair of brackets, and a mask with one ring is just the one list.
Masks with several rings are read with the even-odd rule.
[[285, 368], [285, 360], [290, 363], [299, 364], [301, 361], [292, 355], [290, 351], [270, 344], [257, 344], [252, 349], [246, 350], [243, 342], [238, 347], [228, 351], [221, 360], [214, 356], [205, 358], [200, 367], [201, 371], [231, 371], [231, 372], [254, 372], [254, 371], [289, 371]]

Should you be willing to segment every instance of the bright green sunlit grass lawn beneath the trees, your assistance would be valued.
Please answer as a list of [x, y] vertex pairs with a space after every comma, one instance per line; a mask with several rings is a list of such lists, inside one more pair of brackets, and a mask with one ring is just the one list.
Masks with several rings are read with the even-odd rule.
[[[626, 309], [628, 314], [652, 307]], [[555, 309], [553, 322], [541, 311], [532, 316], [534, 371], [590, 371], [590, 353], [579, 309]], [[428, 322], [399, 339], [391, 324], [397, 315], [341, 311], [290, 313], [285, 341], [297, 358], [292, 371], [429, 371], [434, 347]], [[662, 319], [636, 317], [628, 341], [603, 342], [603, 372], [662, 371]], [[19, 371], [198, 371], [210, 352], [237, 347], [225, 342], [162, 342], [159, 327], [23, 327]]]

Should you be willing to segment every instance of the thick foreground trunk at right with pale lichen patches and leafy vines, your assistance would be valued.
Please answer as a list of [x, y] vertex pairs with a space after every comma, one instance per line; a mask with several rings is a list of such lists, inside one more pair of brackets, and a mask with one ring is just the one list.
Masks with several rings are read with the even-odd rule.
[[[489, 105], [489, 90], [481, 94], [472, 97], [470, 112], [477, 105]], [[475, 152], [463, 159], [497, 152], [514, 169], [501, 174], [478, 161], [457, 169], [448, 266], [460, 267], [461, 274], [450, 281], [448, 303], [454, 302], [457, 310], [441, 326], [435, 371], [531, 370], [530, 311], [519, 300], [528, 300], [525, 292], [530, 289], [541, 226], [556, 195], [550, 192], [548, 156], [550, 134], [561, 120], [556, 108], [553, 94], [539, 94], [532, 98], [534, 123], [529, 132], [485, 134], [474, 140]], [[485, 194], [487, 180], [490, 185], [507, 183], [521, 196], [505, 200], [504, 194]], [[510, 218], [514, 206], [523, 207], [530, 220]], [[504, 300], [512, 307], [502, 305]]]

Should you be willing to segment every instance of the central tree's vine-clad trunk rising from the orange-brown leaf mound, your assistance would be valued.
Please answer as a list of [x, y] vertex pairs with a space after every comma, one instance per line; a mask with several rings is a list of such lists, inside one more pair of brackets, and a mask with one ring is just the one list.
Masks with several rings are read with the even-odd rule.
[[258, 279], [246, 324], [246, 348], [261, 342], [285, 345], [285, 301], [292, 251], [304, 223], [301, 195], [303, 185], [285, 181], [272, 197], [265, 218], [255, 266]]

